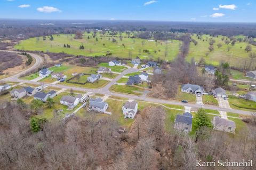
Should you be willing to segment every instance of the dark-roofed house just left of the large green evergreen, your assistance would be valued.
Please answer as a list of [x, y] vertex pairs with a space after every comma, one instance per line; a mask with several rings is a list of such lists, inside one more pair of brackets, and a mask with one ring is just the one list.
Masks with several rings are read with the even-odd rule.
[[192, 130], [193, 116], [189, 112], [177, 115], [174, 120], [174, 128], [180, 131], [190, 132]]

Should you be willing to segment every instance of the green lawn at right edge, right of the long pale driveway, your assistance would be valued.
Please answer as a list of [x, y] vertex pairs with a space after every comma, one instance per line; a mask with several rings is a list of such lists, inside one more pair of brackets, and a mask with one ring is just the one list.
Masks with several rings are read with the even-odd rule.
[[256, 111], [256, 102], [237, 98], [236, 96], [229, 95], [228, 102], [231, 108], [246, 111]]

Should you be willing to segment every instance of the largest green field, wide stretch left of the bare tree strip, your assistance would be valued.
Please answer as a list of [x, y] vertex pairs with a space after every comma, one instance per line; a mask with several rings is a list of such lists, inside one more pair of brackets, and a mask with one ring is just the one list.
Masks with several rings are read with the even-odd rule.
[[[105, 34], [106, 36], [107, 34]], [[73, 35], [53, 35], [53, 41], [50, 41], [49, 37], [43, 41], [43, 37], [29, 38], [25, 41], [21, 41], [15, 45], [19, 50], [31, 50], [31, 51], [44, 51], [44, 52], [65, 52], [74, 55], [106, 55], [107, 52], [111, 52], [113, 56], [127, 58], [127, 56], [135, 57], [139, 56], [141, 59], [158, 57], [164, 60], [172, 60], [179, 53], [179, 41], [147, 41], [140, 38], [122, 38], [122, 41], [118, 37], [102, 37], [99, 32], [93, 38], [93, 33], [84, 33], [83, 39], [74, 39]], [[87, 37], [89, 36], [90, 39]], [[108, 35], [109, 36], [109, 35]], [[98, 39], [98, 41], [96, 40]], [[112, 39], [115, 38], [116, 42]], [[64, 44], [69, 44], [70, 48], [63, 47]], [[124, 46], [123, 46], [124, 44]], [[83, 45], [84, 50], [79, 50], [79, 46]], [[148, 50], [149, 53], [143, 52]], [[167, 51], [167, 56], [165, 56]]]

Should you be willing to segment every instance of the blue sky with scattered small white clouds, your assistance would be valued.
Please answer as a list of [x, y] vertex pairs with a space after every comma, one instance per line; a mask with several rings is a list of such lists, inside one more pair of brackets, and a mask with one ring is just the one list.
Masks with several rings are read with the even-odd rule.
[[1, 19], [256, 22], [256, 0], [0, 0]]

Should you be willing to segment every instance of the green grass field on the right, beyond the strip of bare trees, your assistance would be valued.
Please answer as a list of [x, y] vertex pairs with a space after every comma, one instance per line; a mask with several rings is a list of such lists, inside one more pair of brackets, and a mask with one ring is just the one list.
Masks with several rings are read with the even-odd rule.
[[[196, 61], [199, 61], [201, 58], [204, 58], [206, 63], [213, 64], [214, 66], [219, 65], [219, 61], [229, 62], [231, 66], [239, 66], [243, 63], [245, 59], [250, 59], [248, 53], [244, 50], [247, 43], [236, 42], [234, 46], [225, 44], [225, 40], [221, 40], [222, 36], [210, 37], [210, 35], [202, 35], [201, 39], [198, 39], [196, 35], [192, 36], [198, 44], [195, 46], [192, 42], [189, 47], [189, 54], [187, 56], [187, 61], [190, 61], [191, 58], [195, 58]], [[209, 51], [209, 42], [210, 38], [215, 40], [214, 50]], [[226, 38], [226, 37], [225, 37]], [[222, 47], [218, 48], [217, 44], [221, 43]], [[230, 46], [230, 51], [227, 51], [228, 46]], [[252, 51], [256, 51], [256, 47], [252, 45]], [[206, 53], [209, 53], [206, 56]]]

